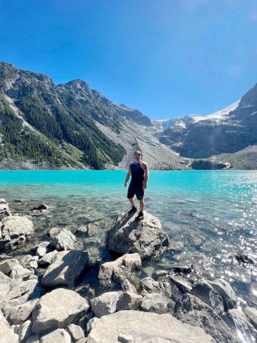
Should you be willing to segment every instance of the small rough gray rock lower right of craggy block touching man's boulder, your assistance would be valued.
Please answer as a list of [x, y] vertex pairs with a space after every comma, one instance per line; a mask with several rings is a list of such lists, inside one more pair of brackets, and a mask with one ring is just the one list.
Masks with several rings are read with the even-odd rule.
[[138, 292], [142, 295], [147, 293], [159, 293], [167, 298], [171, 297], [171, 285], [167, 281], [154, 281], [149, 276], [140, 280]]

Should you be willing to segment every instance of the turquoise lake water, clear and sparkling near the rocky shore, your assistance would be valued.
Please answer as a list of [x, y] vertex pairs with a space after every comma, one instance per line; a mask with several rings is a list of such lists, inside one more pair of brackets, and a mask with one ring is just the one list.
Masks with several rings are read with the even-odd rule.
[[[36, 235], [15, 254], [42, 240], [47, 228], [62, 226], [80, 235], [94, 258], [111, 259], [106, 231], [118, 213], [130, 209], [126, 171], [0, 171], [0, 198], [14, 213], [32, 215]], [[48, 214], [31, 209], [44, 202]], [[238, 305], [257, 306], [257, 270], [239, 265], [234, 255], [257, 258], [257, 171], [150, 171], [145, 209], [156, 215], [171, 239], [171, 250], [146, 261], [143, 275], [171, 270], [174, 263], [195, 266], [189, 278], [222, 277], [238, 295]]]

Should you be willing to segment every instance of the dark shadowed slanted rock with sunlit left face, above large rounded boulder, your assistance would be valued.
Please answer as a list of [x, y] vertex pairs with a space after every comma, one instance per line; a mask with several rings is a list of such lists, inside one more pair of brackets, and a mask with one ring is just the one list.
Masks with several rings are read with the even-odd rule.
[[66, 285], [72, 288], [80, 274], [89, 265], [87, 251], [65, 250], [58, 252], [42, 278], [42, 285], [46, 287]]

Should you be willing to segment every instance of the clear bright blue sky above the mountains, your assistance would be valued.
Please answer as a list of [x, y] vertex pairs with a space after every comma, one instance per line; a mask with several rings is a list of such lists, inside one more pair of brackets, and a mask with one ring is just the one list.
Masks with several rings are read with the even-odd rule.
[[151, 119], [204, 115], [257, 82], [257, 1], [0, 0], [0, 60]]

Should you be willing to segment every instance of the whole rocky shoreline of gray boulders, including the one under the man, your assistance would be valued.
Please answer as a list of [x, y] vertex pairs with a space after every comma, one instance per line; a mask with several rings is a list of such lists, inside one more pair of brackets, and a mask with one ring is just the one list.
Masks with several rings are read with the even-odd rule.
[[[33, 211], [49, 209], [40, 204]], [[121, 213], [112, 223], [106, 237], [112, 261], [93, 261], [76, 233], [59, 227], [13, 257], [36, 232], [32, 220], [12, 215], [1, 199], [0, 342], [255, 342], [257, 309], [238, 308], [224, 279], [192, 279], [193, 265], [182, 264], [141, 276], [143, 261], [160, 259], [169, 237], [151, 213], [140, 222], [134, 217]], [[256, 263], [247, 255], [237, 259]], [[79, 286], [92, 274], [101, 294]]]

